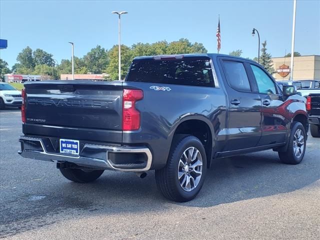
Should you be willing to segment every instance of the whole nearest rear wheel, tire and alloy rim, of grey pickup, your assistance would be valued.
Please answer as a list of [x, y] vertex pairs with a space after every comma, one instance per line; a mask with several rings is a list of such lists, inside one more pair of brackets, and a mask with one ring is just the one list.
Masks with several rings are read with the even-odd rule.
[[183, 202], [200, 191], [206, 172], [201, 141], [191, 135], [174, 136], [165, 167], [155, 170], [158, 189], [169, 200]]

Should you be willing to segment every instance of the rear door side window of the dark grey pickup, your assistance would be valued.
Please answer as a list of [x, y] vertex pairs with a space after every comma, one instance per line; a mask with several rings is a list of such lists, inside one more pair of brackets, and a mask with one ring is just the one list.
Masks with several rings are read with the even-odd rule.
[[223, 60], [228, 84], [238, 91], [251, 91], [244, 65], [239, 61]]

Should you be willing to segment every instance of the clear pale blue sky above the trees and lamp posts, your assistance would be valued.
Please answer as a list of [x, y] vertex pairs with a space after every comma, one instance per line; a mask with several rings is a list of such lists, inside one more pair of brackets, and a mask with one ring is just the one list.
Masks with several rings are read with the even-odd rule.
[[[118, 42], [117, 15], [121, 16], [121, 44], [168, 42], [187, 38], [216, 52], [216, 28], [220, 15], [221, 49], [228, 54], [242, 49], [243, 57], [257, 56], [258, 38], [267, 41], [273, 57], [291, 50], [293, 0], [256, 1], [93, 1], [0, 0], [0, 38], [8, 47], [0, 57], [11, 67], [26, 46], [41, 48], [60, 62], [81, 57], [101, 45], [110, 49]], [[294, 51], [320, 55], [320, 0], [297, 0]]]

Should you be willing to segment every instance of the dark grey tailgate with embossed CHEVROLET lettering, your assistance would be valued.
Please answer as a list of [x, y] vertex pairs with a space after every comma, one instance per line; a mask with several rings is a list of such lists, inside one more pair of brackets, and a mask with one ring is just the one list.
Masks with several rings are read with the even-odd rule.
[[26, 83], [26, 123], [121, 131], [122, 91], [122, 82]]

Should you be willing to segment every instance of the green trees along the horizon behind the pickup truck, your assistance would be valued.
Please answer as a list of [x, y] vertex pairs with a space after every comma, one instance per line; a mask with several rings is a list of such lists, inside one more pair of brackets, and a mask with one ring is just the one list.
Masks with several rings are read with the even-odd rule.
[[[272, 73], [271, 54], [266, 48], [266, 41], [262, 42], [260, 64], [265, 67], [267, 71]], [[186, 38], [181, 38], [177, 41], [167, 42], [165, 40], [154, 43], [135, 43], [131, 46], [121, 45], [121, 78], [123, 79], [127, 73], [128, 67], [135, 56], [147, 55], [161, 55], [161, 54], [181, 54], [181, 53], [206, 53], [207, 49], [202, 43], [190, 42]], [[288, 53], [286, 56], [288, 56]], [[294, 52], [294, 55], [299, 54]], [[229, 55], [241, 56], [242, 50], [237, 49], [229, 52]], [[252, 60], [257, 61], [257, 57]], [[59, 79], [60, 74], [70, 74], [71, 60], [62, 59], [59, 64], [51, 53], [42, 49], [32, 50], [29, 46], [25, 47], [18, 53], [16, 63], [11, 69], [8, 68], [7, 62], [0, 59], [1, 79], [3, 74], [35, 74], [50, 76], [54, 79]], [[92, 48], [82, 57], [74, 57], [74, 73], [101, 74], [107, 73], [109, 78], [107, 80], [118, 79], [118, 45], [113, 45], [110, 49], [105, 49], [100, 45]]]

